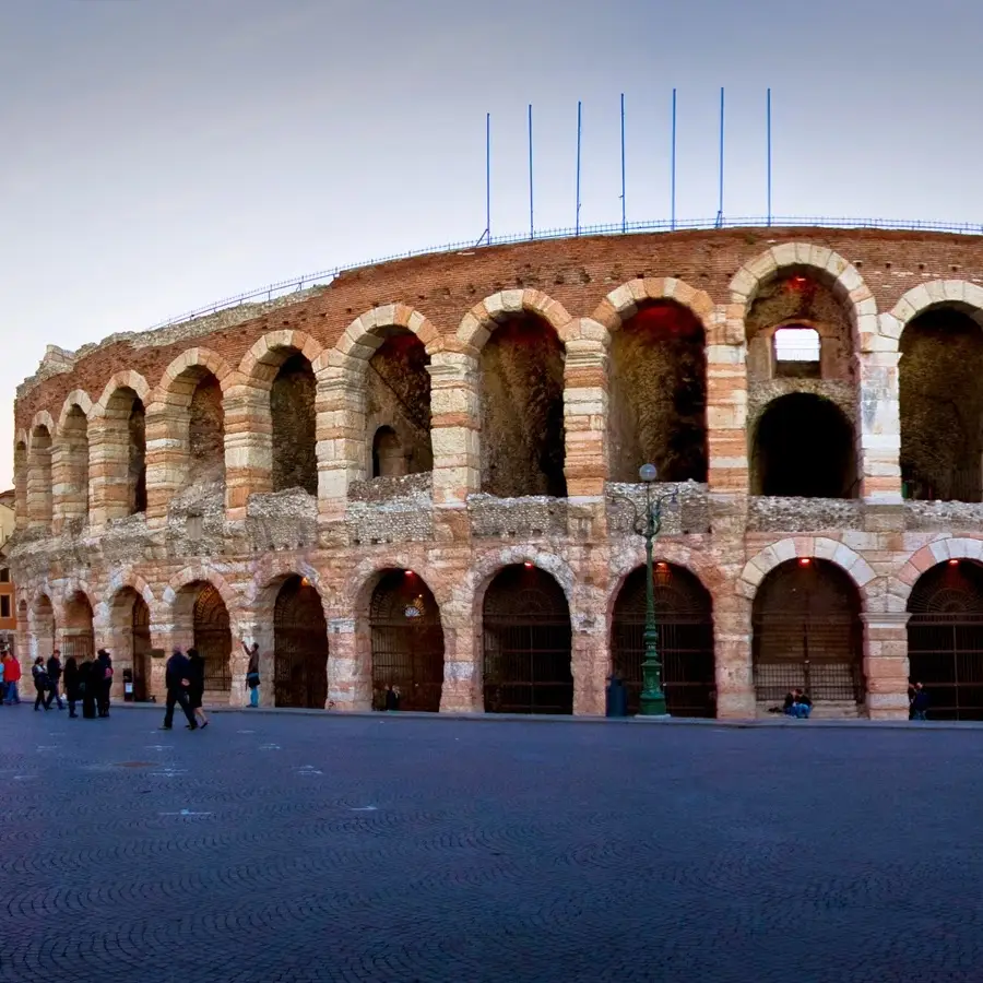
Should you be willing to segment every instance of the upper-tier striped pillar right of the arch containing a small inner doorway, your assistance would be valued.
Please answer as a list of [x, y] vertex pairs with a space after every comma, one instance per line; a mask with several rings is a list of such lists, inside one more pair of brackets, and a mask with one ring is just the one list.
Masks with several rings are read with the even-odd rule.
[[430, 442], [434, 448], [434, 504], [463, 504], [481, 490], [477, 352], [445, 339], [430, 354]]

